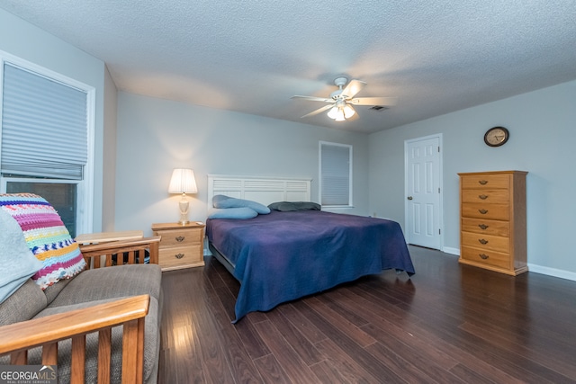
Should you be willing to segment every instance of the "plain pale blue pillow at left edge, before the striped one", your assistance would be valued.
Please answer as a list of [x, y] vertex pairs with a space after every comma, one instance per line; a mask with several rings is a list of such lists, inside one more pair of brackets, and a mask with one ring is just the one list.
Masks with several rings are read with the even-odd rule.
[[0, 303], [40, 271], [42, 263], [30, 252], [24, 234], [8, 212], [0, 210]]

